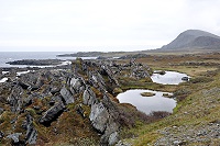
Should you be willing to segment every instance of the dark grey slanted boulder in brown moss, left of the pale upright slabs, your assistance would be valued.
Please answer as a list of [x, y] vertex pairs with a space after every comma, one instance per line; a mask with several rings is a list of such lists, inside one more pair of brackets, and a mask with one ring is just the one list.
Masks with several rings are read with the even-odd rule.
[[51, 123], [63, 113], [65, 105], [63, 102], [56, 103], [43, 114], [43, 116], [40, 119], [40, 123], [46, 126], [51, 125]]

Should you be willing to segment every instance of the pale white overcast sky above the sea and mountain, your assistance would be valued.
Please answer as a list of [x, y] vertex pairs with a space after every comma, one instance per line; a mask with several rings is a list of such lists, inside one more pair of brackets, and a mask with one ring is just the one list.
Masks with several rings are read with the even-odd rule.
[[186, 30], [220, 35], [219, 7], [220, 0], [0, 0], [0, 50], [158, 48]]

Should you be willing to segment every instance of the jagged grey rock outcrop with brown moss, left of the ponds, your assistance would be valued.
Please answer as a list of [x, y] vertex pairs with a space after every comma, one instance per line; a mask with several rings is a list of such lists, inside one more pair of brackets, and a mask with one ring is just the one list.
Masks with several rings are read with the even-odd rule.
[[[4, 87], [0, 88], [0, 92], [8, 97], [6, 101], [6, 98], [2, 99], [3, 96], [0, 96], [0, 106], [7, 104], [2, 106], [1, 131], [8, 133], [8, 128], [2, 125], [12, 125], [10, 133], [22, 132], [9, 136], [13, 137], [14, 144], [24, 142], [28, 145], [41, 145], [51, 141], [42, 135], [42, 128], [50, 134], [57, 134], [58, 137], [64, 131], [69, 137], [77, 137], [77, 133], [85, 130], [91, 137], [99, 133], [100, 145], [114, 145], [119, 141], [121, 127], [120, 112], [116, 105], [118, 103], [111, 101], [111, 94], [120, 87], [116, 72], [123, 71], [124, 68], [131, 70], [131, 67], [145, 68], [139, 64], [129, 64], [125, 67], [123, 64], [103, 61], [77, 59], [72, 68], [66, 70], [23, 69], [25, 74], [19, 76], [14, 69], [14, 74], [10, 75], [13, 78], [10, 77], [9, 81], [2, 83]], [[127, 71], [128, 75], [130, 72]], [[7, 111], [9, 105], [12, 112]], [[50, 135], [50, 138], [55, 135]]]

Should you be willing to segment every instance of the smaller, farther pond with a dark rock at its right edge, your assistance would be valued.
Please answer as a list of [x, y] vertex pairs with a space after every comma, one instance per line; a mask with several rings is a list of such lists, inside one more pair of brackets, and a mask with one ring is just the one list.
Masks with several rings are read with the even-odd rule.
[[165, 75], [153, 74], [151, 79], [153, 82], [162, 83], [162, 85], [178, 85], [184, 82], [182, 78], [188, 77], [186, 74], [180, 74], [176, 71], [165, 71]]

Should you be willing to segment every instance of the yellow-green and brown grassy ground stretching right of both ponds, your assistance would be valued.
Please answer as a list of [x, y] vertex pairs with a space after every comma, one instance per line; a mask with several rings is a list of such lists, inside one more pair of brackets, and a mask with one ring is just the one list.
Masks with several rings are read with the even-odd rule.
[[[186, 72], [191, 78], [188, 82], [183, 82], [176, 87], [163, 86], [163, 91], [173, 91], [173, 97], [177, 100], [174, 113], [157, 122], [138, 123], [136, 127], [124, 130], [123, 133], [133, 135], [133, 137], [127, 138], [124, 136], [123, 142], [135, 146], [175, 145], [174, 143], [191, 146], [219, 145], [219, 137], [211, 136], [211, 133], [216, 133], [220, 121], [220, 66], [179, 65], [179, 63], [190, 59], [196, 60], [198, 56], [200, 56], [200, 60], [208, 61], [207, 58], [210, 58], [210, 61], [219, 63], [218, 57], [220, 57], [220, 54], [164, 55], [160, 58], [152, 56], [151, 58], [139, 59], [139, 61], [153, 66], [154, 69]], [[148, 88], [147, 86], [145, 88], [152, 89], [152, 87], [156, 87], [154, 83], [150, 85]], [[194, 130], [194, 133], [190, 132], [191, 130]], [[198, 136], [202, 131], [207, 132], [206, 135]], [[188, 135], [188, 138], [185, 135]], [[190, 137], [194, 137], [194, 141]]]

